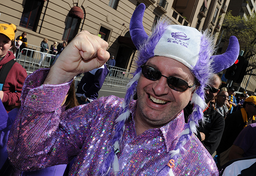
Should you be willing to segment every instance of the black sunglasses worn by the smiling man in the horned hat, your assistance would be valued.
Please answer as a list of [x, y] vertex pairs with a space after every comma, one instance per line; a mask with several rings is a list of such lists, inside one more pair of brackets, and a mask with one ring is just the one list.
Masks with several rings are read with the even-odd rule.
[[162, 73], [157, 70], [156, 68], [150, 67], [148, 65], [142, 65], [142, 74], [145, 78], [156, 81], [159, 80], [161, 77], [167, 78], [167, 84], [168, 86], [176, 91], [183, 92], [187, 90], [188, 88], [193, 87], [196, 85], [194, 83], [193, 85], [189, 86], [188, 83], [180, 78], [177, 77], [166, 77], [165, 75], [162, 75]]

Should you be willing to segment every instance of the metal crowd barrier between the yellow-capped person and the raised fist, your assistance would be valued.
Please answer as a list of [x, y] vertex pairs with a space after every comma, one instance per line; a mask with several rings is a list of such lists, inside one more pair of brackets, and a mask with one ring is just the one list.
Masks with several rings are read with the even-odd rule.
[[[45, 52], [35, 51], [33, 49], [23, 48], [16, 58], [16, 62], [21, 64], [23, 68], [26, 69], [28, 75], [33, 73], [35, 70], [39, 68], [48, 68], [50, 67], [51, 57], [55, 56], [53, 54], [48, 54]], [[44, 59], [39, 66], [39, 61], [43, 57]]]

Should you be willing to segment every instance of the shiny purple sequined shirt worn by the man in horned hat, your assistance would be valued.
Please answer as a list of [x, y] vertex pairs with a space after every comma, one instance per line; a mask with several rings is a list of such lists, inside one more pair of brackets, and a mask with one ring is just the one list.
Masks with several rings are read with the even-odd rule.
[[[76, 157], [69, 175], [97, 175], [111, 146], [114, 120], [123, 99], [100, 98], [61, 113], [70, 83], [42, 85], [48, 69], [41, 69], [24, 82], [21, 108], [8, 139], [8, 155], [21, 170], [67, 164]], [[179, 133], [184, 127], [183, 111], [169, 124], [136, 136], [133, 117], [136, 101], [130, 103], [123, 143], [117, 153], [119, 176], [158, 175], [170, 160]], [[217, 176], [214, 160], [195, 135], [192, 135], [174, 162], [175, 176]], [[114, 175], [111, 169], [111, 176]]]

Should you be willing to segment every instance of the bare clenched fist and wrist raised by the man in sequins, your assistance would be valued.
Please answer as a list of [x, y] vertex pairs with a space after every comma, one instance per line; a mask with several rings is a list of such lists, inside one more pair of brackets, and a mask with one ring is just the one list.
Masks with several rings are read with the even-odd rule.
[[109, 58], [108, 43], [98, 36], [82, 31], [62, 51], [44, 84], [66, 83], [79, 73], [101, 67]]

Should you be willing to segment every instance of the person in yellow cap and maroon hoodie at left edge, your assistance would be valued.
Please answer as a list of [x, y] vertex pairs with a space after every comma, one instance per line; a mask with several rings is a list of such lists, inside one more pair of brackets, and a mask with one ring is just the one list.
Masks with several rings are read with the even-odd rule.
[[18, 62], [13, 61], [15, 56], [9, 51], [15, 47], [15, 30], [14, 24], [0, 24], [0, 70], [3, 65], [14, 63], [0, 89], [0, 99], [7, 112], [20, 105], [21, 90], [27, 77], [26, 70]]

